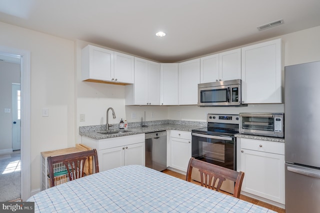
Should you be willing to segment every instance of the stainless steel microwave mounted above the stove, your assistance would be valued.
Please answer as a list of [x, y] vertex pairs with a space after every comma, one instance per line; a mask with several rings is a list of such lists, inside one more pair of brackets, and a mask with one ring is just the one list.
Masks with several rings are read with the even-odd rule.
[[198, 106], [246, 106], [241, 104], [241, 80], [199, 83]]

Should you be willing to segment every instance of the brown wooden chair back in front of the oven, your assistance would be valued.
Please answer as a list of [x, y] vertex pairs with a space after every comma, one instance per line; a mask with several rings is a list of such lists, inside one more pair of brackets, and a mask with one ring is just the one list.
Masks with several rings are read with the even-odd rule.
[[[221, 184], [225, 179], [229, 179], [235, 182], [233, 196], [239, 198], [242, 180], [244, 177], [244, 172], [234, 171], [229, 168], [225, 168], [219, 165], [204, 162], [194, 157], [189, 160], [188, 168], [186, 171], [186, 181], [191, 181], [192, 168], [198, 168], [200, 172], [201, 185], [206, 188], [214, 189], [214, 185], [217, 182], [215, 190], [220, 190]], [[213, 178], [213, 182], [212, 182]], [[212, 183], [212, 185], [211, 185]]]

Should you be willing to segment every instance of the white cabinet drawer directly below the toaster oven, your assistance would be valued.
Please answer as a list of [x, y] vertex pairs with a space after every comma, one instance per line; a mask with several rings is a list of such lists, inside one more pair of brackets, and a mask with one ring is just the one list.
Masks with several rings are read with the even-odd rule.
[[284, 154], [284, 143], [266, 140], [241, 138], [241, 148]]

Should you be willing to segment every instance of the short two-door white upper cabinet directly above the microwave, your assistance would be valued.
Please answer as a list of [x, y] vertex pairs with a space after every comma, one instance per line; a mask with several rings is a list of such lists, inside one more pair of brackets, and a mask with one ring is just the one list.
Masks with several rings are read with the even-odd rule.
[[241, 49], [233, 49], [200, 58], [200, 82], [241, 78]]

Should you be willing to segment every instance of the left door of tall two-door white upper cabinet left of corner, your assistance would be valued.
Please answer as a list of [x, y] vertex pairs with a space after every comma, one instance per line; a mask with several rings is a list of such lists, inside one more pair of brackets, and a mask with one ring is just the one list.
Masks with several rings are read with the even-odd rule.
[[134, 104], [137, 105], [145, 105], [148, 102], [147, 69], [147, 60], [134, 57]]

